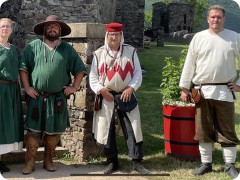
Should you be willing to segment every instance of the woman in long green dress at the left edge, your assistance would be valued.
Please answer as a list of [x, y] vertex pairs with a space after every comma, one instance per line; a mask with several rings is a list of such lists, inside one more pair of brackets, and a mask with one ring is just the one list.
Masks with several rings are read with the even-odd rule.
[[1, 155], [21, 151], [23, 147], [23, 115], [19, 75], [19, 54], [8, 42], [13, 22], [0, 19], [0, 171], [10, 169], [1, 161]]

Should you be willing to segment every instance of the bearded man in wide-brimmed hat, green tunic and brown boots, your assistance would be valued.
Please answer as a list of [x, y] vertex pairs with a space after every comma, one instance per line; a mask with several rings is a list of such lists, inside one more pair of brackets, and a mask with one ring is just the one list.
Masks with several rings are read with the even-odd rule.
[[23, 174], [35, 170], [41, 141], [45, 145], [43, 167], [56, 170], [52, 160], [55, 148], [60, 134], [70, 125], [67, 96], [79, 89], [86, 73], [76, 50], [61, 40], [61, 36], [71, 33], [71, 28], [57, 16], [48, 16], [36, 24], [33, 31], [43, 38], [33, 40], [24, 48], [20, 63], [20, 77], [28, 97]]

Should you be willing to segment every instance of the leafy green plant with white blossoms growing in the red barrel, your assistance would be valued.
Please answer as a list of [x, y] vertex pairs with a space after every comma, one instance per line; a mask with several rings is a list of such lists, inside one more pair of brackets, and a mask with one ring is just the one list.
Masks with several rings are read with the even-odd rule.
[[179, 81], [188, 51], [186, 46], [179, 59], [176, 61], [172, 57], [165, 57], [166, 65], [162, 70], [162, 82], [160, 84], [160, 93], [162, 94], [162, 103], [169, 105], [192, 106], [191, 103], [185, 103], [180, 100], [181, 89]]

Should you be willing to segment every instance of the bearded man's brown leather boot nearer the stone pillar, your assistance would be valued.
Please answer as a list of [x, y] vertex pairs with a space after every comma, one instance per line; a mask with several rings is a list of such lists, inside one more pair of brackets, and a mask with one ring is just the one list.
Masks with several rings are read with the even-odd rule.
[[53, 156], [55, 154], [55, 149], [60, 139], [59, 135], [46, 135], [45, 142], [45, 150], [44, 150], [44, 161], [43, 168], [48, 171], [56, 171], [56, 168], [53, 166]]

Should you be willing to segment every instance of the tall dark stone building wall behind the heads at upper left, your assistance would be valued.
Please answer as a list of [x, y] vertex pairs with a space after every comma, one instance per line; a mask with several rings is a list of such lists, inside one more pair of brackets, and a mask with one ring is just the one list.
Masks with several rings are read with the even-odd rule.
[[143, 47], [144, 0], [8, 0], [0, 9], [0, 17], [16, 22], [12, 42], [20, 51], [36, 38], [33, 26], [50, 14], [66, 23], [109, 23], [118, 21], [125, 26], [127, 43]]

